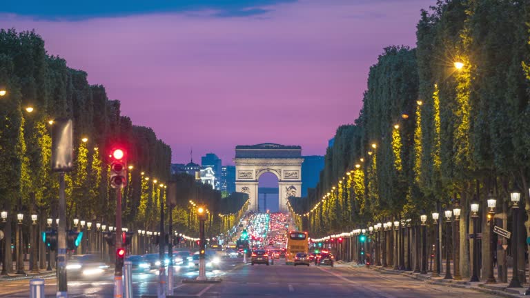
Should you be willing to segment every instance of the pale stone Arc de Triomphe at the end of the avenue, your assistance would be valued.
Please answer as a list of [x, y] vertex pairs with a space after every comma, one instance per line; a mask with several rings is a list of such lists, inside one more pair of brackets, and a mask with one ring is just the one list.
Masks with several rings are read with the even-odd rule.
[[287, 198], [302, 195], [302, 147], [261, 143], [235, 147], [235, 190], [251, 200], [248, 210], [257, 208], [257, 181], [271, 172], [278, 178], [280, 212], [287, 212]]

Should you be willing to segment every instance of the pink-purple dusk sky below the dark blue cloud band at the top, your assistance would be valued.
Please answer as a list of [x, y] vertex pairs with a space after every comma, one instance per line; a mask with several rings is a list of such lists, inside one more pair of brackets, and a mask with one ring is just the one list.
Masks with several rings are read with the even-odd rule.
[[[226, 17], [204, 8], [121, 17], [47, 19], [0, 14], [0, 28], [35, 28], [49, 54], [88, 72], [150, 126], [173, 162], [236, 145], [283, 143], [324, 155], [353, 123], [382, 48], [415, 45], [420, 9], [435, 0], [304, 0]], [[215, 12], [215, 11], [214, 11]]]

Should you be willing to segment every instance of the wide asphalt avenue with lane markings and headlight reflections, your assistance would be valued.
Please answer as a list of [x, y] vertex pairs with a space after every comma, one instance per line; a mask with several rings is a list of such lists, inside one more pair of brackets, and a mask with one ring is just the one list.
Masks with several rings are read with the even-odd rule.
[[[220, 284], [181, 284], [194, 277], [195, 270], [176, 272], [176, 297], [495, 297], [482, 292], [426, 284], [401, 275], [384, 275], [351, 266], [317, 267], [242, 264], [241, 259], [225, 260], [210, 276], [223, 279]], [[156, 295], [156, 272], [133, 275], [135, 297]], [[99, 281], [69, 281], [69, 297], [112, 297], [112, 275]], [[3, 285], [5, 283], [5, 286]], [[28, 281], [0, 284], [0, 297], [28, 297]], [[46, 280], [46, 297], [55, 297], [55, 279]]]

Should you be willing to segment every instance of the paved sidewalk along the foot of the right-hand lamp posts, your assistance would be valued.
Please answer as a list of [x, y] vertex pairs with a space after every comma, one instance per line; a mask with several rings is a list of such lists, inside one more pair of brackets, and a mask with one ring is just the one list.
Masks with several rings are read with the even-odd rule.
[[[354, 268], [368, 268], [364, 265], [359, 264], [351, 264], [350, 266]], [[441, 274], [441, 277], [431, 277], [431, 272], [427, 272], [426, 275], [422, 275], [420, 273], [414, 273], [412, 271], [400, 271], [394, 270], [393, 268], [384, 268], [382, 266], [370, 266], [368, 269], [381, 272], [383, 274], [403, 275], [406, 277], [411, 277], [413, 279], [425, 281], [429, 284], [437, 284], [455, 288], [469, 288], [472, 290], [477, 290], [480, 292], [485, 292], [488, 294], [498, 295], [502, 297], [521, 297], [524, 296], [524, 292], [526, 292], [527, 290], [527, 288], [507, 288], [507, 283], [486, 284], [485, 281], [469, 282], [469, 278], [465, 278], [460, 281], [454, 279], [444, 279], [443, 273]]]

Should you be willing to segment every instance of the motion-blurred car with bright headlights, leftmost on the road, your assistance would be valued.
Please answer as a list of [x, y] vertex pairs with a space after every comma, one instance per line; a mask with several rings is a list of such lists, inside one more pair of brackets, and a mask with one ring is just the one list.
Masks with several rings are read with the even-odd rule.
[[66, 262], [66, 272], [72, 278], [99, 277], [108, 267], [99, 255], [70, 255]]

